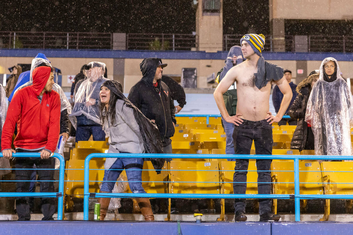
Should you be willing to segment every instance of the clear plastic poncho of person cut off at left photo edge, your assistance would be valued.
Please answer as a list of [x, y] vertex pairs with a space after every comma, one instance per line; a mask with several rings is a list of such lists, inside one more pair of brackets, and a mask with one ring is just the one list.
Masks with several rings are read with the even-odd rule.
[[[1, 146], [1, 132], [2, 126], [4, 126], [7, 112], [7, 98], [5, 95], [5, 90], [2, 85], [0, 85], [0, 146]], [[10, 161], [5, 157], [0, 157], [0, 175], [5, 175], [10, 173]]]

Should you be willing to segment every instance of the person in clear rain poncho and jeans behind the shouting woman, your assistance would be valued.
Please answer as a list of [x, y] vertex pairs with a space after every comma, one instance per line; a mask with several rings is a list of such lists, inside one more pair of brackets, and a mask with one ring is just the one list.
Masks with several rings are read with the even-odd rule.
[[94, 141], [106, 140], [106, 135], [100, 125], [99, 115], [99, 92], [101, 85], [107, 78], [104, 78], [106, 64], [101, 62], [90, 62], [85, 66], [87, 80], [80, 85], [76, 95], [72, 113], [69, 116], [77, 119], [76, 142], [87, 141], [92, 135]]

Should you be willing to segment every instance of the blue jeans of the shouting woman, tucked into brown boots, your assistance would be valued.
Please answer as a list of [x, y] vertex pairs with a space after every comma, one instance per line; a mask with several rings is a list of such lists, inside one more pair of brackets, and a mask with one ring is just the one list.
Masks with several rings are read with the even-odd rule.
[[116, 180], [125, 168], [130, 190], [133, 193], [146, 193], [142, 187], [143, 158], [121, 157], [116, 159], [109, 170], [104, 171], [101, 191], [112, 192]]

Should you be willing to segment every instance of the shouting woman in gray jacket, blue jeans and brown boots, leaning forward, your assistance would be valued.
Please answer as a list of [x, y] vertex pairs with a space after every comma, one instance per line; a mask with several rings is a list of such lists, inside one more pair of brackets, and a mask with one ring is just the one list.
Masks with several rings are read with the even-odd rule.
[[[146, 140], [145, 131], [141, 129], [141, 126], [146, 125], [145, 123], [150, 121], [144, 116], [147, 120], [141, 120], [143, 117], [138, 113], [138, 109], [124, 97], [121, 91], [121, 84], [112, 80], [103, 82], [100, 90], [101, 123], [106, 135], [109, 136], [108, 153], [161, 152], [161, 141], [152, 141], [154, 142], [152, 143], [150, 140]], [[141, 122], [144, 122], [144, 124]], [[152, 132], [158, 135], [157, 127], [152, 123], [150, 125]], [[146, 146], [146, 142], [149, 146]], [[151, 151], [151, 146], [156, 147], [155, 149], [161, 148], [161, 151]], [[125, 168], [128, 169], [126, 175], [131, 191], [133, 193], [146, 193], [141, 182], [143, 161], [143, 158], [133, 157], [107, 158], [100, 192], [111, 193], [115, 181]], [[154, 216], [150, 200], [148, 198], [136, 198], [136, 200], [142, 215], [145, 217], [145, 221], [153, 221]], [[104, 220], [109, 202], [110, 198], [98, 199], [98, 203], [101, 204], [100, 220]]]

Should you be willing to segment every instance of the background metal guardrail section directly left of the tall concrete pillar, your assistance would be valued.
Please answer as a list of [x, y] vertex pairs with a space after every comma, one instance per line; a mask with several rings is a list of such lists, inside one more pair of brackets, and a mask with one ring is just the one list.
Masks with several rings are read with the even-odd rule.
[[192, 50], [197, 37], [180, 33], [127, 33], [127, 50]]

